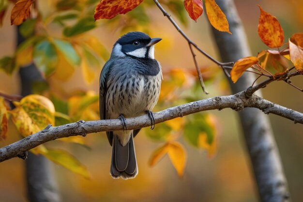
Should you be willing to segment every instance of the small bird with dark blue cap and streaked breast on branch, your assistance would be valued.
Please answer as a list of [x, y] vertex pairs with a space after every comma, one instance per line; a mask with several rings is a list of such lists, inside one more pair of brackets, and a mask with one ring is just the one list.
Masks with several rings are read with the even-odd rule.
[[114, 44], [101, 71], [100, 119], [119, 118], [123, 124], [123, 131], [106, 132], [112, 146], [113, 178], [130, 179], [138, 173], [134, 138], [140, 129], [127, 130], [125, 118], [147, 113], [154, 128], [152, 109], [162, 80], [161, 65], [154, 59], [154, 45], [161, 40], [139, 31], [124, 34]]

